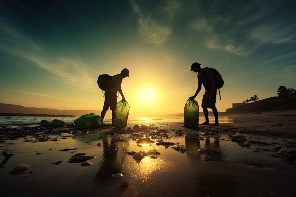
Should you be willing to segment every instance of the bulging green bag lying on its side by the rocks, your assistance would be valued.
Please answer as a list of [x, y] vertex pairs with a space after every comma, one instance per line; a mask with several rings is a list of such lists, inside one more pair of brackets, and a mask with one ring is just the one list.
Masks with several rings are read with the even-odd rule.
[[79, 129], [98, 128], [103, 126], [103, 118], [94, 113], [82, 115], [74, 121]]

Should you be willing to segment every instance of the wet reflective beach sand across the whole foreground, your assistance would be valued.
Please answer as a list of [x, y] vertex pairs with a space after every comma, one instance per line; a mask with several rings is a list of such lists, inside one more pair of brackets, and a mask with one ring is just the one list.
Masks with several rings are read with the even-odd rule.
[[[295, 111], [230, 115], [235, 123], [184, 128], [181, 122], [147, 122], [149, 131], [121, 134], [113, 127], [77, 133], [55, 128], [0, 143], [14, 155], [0, 168], [3, 196], [294, 196], [295, 157], [277, 154], [280, 147], [296, 150]], [[201, 123], [201, 120], [200, 120]], [[129, 123], [134, 126], [142, 123]], [[3, 131], [4, 132], [4, 131]], [[2, 132], [2, 135], [3, 135]], [[5, 131], [6, 132], [6, 131]], [[8, 132], [8, 131], [7, 131]], [[149, 133], [151, 144], [136, 144]], [[251, 146], [233, 137], [243, 133]], [[48, 139], [39, 139], [46, 134]], [[12, 136], [9, 136], [12, 138]], [[16, 136], [15, 136], [16, 137]], [[57, 141], [52, 141], [57, 137]], [[179, 142], [181, 153], [158, 141]], [[101, 146], [97, 143], [101, 142]], [[149, 151], [157, 158], [136, 161], [126, 152]], [[205, 152], [198, 150], [203, 147]], [[60, 151], [62, 149], [74, 149]], [[119, 149], [118, 149], [119, 148]], [[50, 150], [51, 149], [51, 150]], [[40, 154], [38, 154], [40, 153]], [[67, 162], [77, 153], [96, 155], [91, 166]], [[52, 162], [62, 161], [60, 164]], [[27, 164], [22, 174], [9, 172]]]

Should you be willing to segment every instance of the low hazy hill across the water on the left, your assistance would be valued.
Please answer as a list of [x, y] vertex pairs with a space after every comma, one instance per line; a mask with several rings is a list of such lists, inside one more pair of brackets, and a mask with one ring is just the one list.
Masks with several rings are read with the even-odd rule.
[[100, 115], [100, 110], [57, 110], [50, 108], [27, 108], [22, 105], [13, 105], [0, 103], [0, 113], [25, 113], [25, 114], [54, 114], [54, 115], [74, 115], [81, 116], [84, 114], [95, 113]]

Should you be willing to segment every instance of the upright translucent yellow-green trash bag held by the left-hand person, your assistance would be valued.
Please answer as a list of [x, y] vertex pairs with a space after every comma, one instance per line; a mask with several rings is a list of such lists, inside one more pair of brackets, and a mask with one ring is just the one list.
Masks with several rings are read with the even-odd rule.
[[119, 101], [115, 108], [114, 126], [118, 128], [126, 127], [128, 122], [129, 104], [127, 101]]

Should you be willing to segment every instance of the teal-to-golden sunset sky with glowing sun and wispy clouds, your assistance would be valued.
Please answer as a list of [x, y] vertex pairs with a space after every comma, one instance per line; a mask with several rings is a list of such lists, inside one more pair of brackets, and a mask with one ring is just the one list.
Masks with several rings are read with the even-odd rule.
[[295, 38], [294, 1], [0, 1], [0, 102], [102, 110], [98, 76], [128, 68], [130, 116], [181, 113], [198, 62], [222, 75], [225, 111], [295, 88]]

